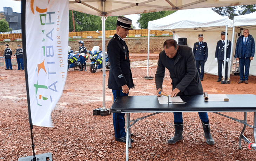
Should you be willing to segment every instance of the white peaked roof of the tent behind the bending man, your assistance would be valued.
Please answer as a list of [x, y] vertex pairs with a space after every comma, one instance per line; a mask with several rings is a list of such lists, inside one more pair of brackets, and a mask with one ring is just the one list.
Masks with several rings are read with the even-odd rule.
[[[220, 26], [233, 27], [232, 21], [228, 16], [221, 16], [210, 8], [184, 9], [170, 14], [164, 18], [149, 21], [149, 30], [170, 30], [181, 31], [180, 29], [188, 28], [191, 30], [212, 30]], [[176, 29], [176, 30], [175, 30]], [[198, 31], [197, 30], [197, 31]], [[184, 31], [184, 30], [182, 30]]]

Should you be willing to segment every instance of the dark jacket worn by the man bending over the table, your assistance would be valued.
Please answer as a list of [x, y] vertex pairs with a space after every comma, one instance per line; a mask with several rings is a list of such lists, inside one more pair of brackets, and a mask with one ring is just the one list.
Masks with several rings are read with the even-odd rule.
[[175, 59], [169, 58], [164, 50], [160, 52], [155, 75], [156, 89], [162, 88], [164, 72], [167, 68], [170, 72], [173, 90], [177, 88], [184, 95], [203, 94], [192, 48], [186, 45], [178, 46]]

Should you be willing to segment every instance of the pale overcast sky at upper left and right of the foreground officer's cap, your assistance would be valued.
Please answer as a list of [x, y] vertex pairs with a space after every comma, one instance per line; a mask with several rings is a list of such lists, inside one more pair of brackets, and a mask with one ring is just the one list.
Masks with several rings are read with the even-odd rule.
[[[4, 10], [4, 7], [12, 7], [13, 12], [21, 13], [21, 2], [15, 1], [15, 0], [0, 0], [0, 11]], [[133, 20], [133, 26], [136, 27], [136, 29], [139, 29], [137, 22], [137, 19], [139, 19], [139, 14], [133, 14], [133, 15], [126, 15], [127, 18]]]

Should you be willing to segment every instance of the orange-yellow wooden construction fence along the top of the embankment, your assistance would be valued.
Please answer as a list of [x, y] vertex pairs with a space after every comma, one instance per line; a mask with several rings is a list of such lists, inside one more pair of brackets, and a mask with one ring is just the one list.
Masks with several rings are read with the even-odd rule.
[[[102, 31], [99, 31], [99, 33], [96, 33], [96, 31], [81, 31], [81, 32], [70, 32], [68, 35], [71, 38], [80, 38], [80, 37], [81, 38], [99, 38], [98, 36], [102, 36]], [[112, 37], [115, 33], [116, 33], [116, 30], [105, 31], [106, 37]], [[168, 31], [150, 30], [150, 36], [160, 36], [160, 35], [171, 36], [173, 35], [173, 33]], [[128, 34], [128, 37], [142, 37], [142, 36], [148, 36], [148, 29], [130, 30]], [[10, 39], [11, 41], [14, 41], [19, 38], [22, 38], [21, 34], [0, 34], [0, 41], [4, 41], [5, 39]]]

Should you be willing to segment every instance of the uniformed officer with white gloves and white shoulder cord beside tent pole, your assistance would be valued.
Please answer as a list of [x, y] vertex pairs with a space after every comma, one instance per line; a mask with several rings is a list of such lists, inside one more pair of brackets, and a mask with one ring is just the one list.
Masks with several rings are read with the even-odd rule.
[[[225, 80], [228, 79], [228, 61], [230, 58], [231, 52], [231, 41], [227, 40], [227, 51], [226, 51], [226, 59], [224, 60], [224, 48], [225, 48], [225, 34], [226, 32], [221, 31], [221, 40], [217, 42], [216, 51], [215, 51], [215, 61], [218, 62], [218, 80], [220, 82], [222, 79], [222, 64], [226, 62], [225, 66]], [[228, 35], [228, 34], [227, 34]]]

